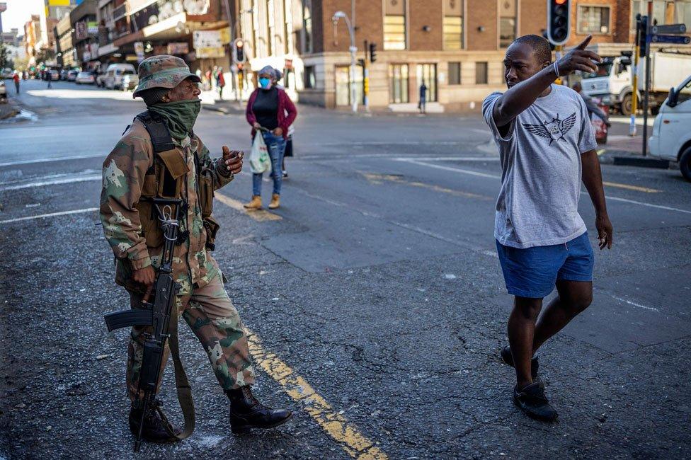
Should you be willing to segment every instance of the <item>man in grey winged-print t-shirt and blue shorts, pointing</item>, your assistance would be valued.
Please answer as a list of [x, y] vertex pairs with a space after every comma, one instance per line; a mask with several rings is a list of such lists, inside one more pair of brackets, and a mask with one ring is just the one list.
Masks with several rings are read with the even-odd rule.
[[[591, 38], [556, 62], [544, 38], [517, 38], [504, 58], [508, 91], [492, 93], [482, 104], [501, 156], [494, 236], [506, 289], [515, 297], [509, 345], [501, 357], [515, 367], [515, 405], [545, 421], [557, 413], [538, 380], [535, 352], [593, 299], [593, 248], [578, 214], [581, 181], [595, 207], [598, 246], [612, 247], [586, 104], [575, 91], [554, 84], [576, 70], [597, 70], [593, 60], [602, 59], [585, 50]], [[539, 315], [555, 285], [558, 296]]]

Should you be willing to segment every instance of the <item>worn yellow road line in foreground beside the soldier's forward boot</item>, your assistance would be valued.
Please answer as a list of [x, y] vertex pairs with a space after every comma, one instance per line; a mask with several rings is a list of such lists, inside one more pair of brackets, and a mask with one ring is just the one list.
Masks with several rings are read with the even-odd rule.
[[261, 339], [251, 331], [249, 332], [249, 351], [254, 362], [264, 369], [269, 376], [283, 387], [286, 393], [298, 403], [304, 410], [319, 423], [343, 450], [355, 459], [385, 460], [389, 457], [375, 444], [363, 436], [355, 425], [338, 413], [326, 402], [324, 398], [314, 391], [312, 386], [301, 376], [295, 374], [290, 367], [282, 362], [279, 357], [267, 352], [261, 346]]

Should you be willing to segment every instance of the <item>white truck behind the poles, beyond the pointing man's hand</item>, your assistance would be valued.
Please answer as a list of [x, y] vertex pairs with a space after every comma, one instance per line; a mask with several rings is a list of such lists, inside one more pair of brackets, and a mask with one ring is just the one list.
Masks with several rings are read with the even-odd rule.
[[[633, 65], [632, 56], [622, 55], [632, 53], [629, 44], [598, 44], [588, 47], [604, 58], [598, 64], [598, 71], [583, 74], [581, 85], [583, 92], [594, 98], [601, 98], [610, 109], [618, 110], [623, 115], [631, 115], [633, 100]], [[651, 46], [651, 73], [649, 106], [651, 113], [656, 115], [660, 106], [667, 98], [670, 88], [677, 86], [679, 81], [691, 74], [691, 47], [663, 48], [659, 45]], [[638, 96], [639, 108], [643, 107], [641, 96], [645, 89], [645, 59], [639, 59], [638, 68]]]

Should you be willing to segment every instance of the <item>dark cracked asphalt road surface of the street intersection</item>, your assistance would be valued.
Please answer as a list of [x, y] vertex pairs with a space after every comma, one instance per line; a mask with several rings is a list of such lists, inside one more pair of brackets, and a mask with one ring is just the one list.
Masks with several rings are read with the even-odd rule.
[[[35, 119], [0, 125], [0, 458], [129, 458], [127, 333], [103, 323], [127, 301], [91, 209], [103, 158], [144, 107], [131, 93], [53, 86], [23, 84]], [[511, 299], [481, 118], [300, 110], [281, 209], [241, 209], [247, 173], [215, 204], [215, 257], [254, 334], [255, 392], [295, 419], [232, 435], [183, 326], [197, 430], [140, 456], [691, 455], [691, 184], [678, 171], [603, 166], [615, 246], [596, 256], [593, 305], [541, 351], [560, 413], [547, 425], [514, 408], [513, 369], [498, 357]], [[195, 132], [217, 154], [249, 151], [239, 115], [202, 110]], [[581, 213], [594, 243], [587, 195]], [[162, 397], [179, 420], [170, 372]]]

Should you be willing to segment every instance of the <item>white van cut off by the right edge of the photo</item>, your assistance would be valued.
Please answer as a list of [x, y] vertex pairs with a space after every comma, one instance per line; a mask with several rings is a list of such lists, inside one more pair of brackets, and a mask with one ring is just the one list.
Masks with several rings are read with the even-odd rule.
[[691, 76], [661, 105], [648, 139], [651, 156], [678, 161], [683, 176], [691, 181]]

